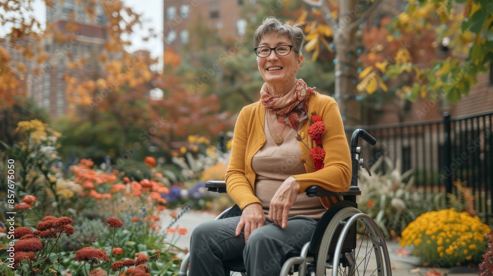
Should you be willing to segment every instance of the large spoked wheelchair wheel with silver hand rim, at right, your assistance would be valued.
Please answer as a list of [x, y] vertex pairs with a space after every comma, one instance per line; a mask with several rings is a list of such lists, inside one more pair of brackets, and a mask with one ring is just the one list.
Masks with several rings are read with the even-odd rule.
[[[364, 226], [364, 233], [356, 234], [357, 225]], [[375, 221], [354, 207], [337, 212], [322, 237], [316, 275], [391, 274], [387, 245]]]

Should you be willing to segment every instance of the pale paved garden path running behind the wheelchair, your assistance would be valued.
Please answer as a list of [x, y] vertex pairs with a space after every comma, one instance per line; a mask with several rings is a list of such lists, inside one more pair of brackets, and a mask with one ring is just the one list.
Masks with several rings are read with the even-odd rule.
[[[193, 211], [190, 210], [186, 212], [182, 217], [178, 219], [175, 226], [185, 227], [187, 233], [181, 236], [176, 242], [176, 245], [180, 248], [189, 248], [190, 246], [190, 234], [199, 223], [212, 220], [216, 217], [215, 214], [203, 211]], [[171, 218], [165, 217], [163, 219], [163, 227], [167, 226]], [[387, 242], [387, 249], [390, 255], [390, 264], [392, 266], [392, 275], [394, 276], [424, 276], [425, 273], [431, 272], [431, 268], [420, 267], [420, 261], [414, 256], [404, 256], [402, 255], [401, 247], [397, 242]], [[474, 269], [467, 268], [452, 268], [452, 269], [436, 269], [437, 272], [441, 273], [442, 276], [453, 275], [453, 276], [477, 276], [479, 272]], [[295, 274], [297, 275], [297, 274]], [[239, 273], [233, 274], [233, 276], [240, 276]], [[433, 275], [435, 276], [435, 275]], [[436, 274], [438, 276], [438, 274]]]

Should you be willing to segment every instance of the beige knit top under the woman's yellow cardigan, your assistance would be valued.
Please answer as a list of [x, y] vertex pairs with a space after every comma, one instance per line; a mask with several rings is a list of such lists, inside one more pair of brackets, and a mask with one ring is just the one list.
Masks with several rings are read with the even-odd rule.
[[[260, 200], [267, 219], [271, 199], [282, 182], [290, 175], [306, 173], [306, 169], [298, 160], [301, 156], [301, 148], [295, 138], [296, 132], [290, 129], [282, 144], [277, 145], [269, 132], [267, 116], [264, 126], [267, 141], [253, 156], [251, 166], [256, 174], [255, 196]], [[286, 127], [289, 128], [289, 125]], [[319, 219], [325, 210], [320, 199], [310, 198], [305, 193], [301, 193], [289, 210], [289, 217], [304, 215]]]

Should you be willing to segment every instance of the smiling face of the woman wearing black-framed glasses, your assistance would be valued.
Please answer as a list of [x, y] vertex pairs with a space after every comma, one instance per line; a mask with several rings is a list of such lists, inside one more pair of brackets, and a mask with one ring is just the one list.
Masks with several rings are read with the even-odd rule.
[[[258, 46], [274, 48], [278, 45], [292, 45], [293, 43], [285, 35], [270, 33], [263, 35]], [[275, 85], [291, 84], [296, 79], [296, 72], [303, 64], [303, 55], [296, 57], [294, 49], [286, 56], [278, 56], [274, 50], [266, 58], [257, 57], [257, 66], [262, 78], [267, 84]]]

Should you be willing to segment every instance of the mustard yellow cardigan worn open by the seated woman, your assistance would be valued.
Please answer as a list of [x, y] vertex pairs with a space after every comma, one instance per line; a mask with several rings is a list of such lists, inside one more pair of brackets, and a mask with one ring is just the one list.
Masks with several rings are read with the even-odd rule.
[[[260, 203], [255, 196], [255, 173], [251, 160], [255, 153], [264, 145], [264, 122], [266, 108], [256, 102], [245, 106], [236, 122], [231, 157], [226, 171], [226, 188], [228, 195], [240, 208], [251, 203]], [[325, 150], [324, 167], [317, 172], [310, 156], [310, 149], [315, 146], [308, 136], [309, 121], [306, 121], [299, 132], [303, 142], [310, 146], [308, 149], [301, 141], [301, 153], [306, 160], [307, 173], [292, 175], [300, 183], [300, 193], [312, 185], [319, 185], [334, 192], [349, 190], [351, 184], [351, 155], [348, 141], [344, 133], [339, 107], [334, 98], [313, 93], [308, 99], [308, 114], [317, 112], [325, 123], [322, 135], [322, 147]], [[323, 206], [328, 208], [335, 199], [320, 198]]]

